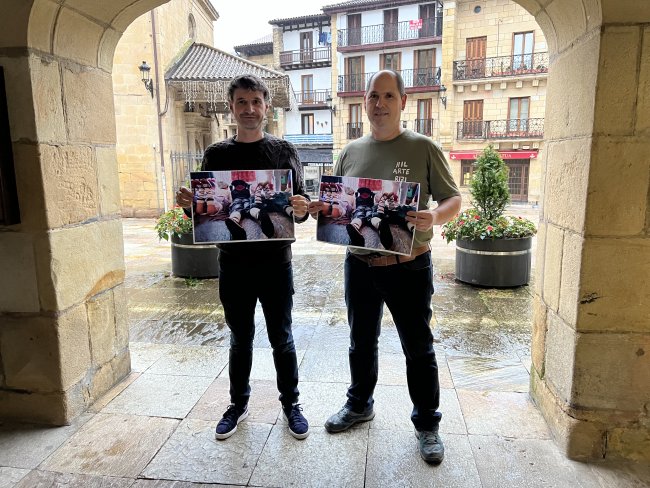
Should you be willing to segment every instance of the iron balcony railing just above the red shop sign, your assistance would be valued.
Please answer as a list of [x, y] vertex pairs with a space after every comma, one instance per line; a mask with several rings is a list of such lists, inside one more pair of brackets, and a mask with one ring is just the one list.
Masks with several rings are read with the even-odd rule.
[[544, 119], [472, 120], [457, 123], [457, 139], [542, 139]]

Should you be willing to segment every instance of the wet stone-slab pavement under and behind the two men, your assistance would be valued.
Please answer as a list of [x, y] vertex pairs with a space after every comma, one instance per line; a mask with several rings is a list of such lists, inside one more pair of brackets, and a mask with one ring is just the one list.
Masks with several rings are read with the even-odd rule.
[[[510, 212], [536, 216], [536, 209]], [[73, 425], [0, 426], [5, 487], [642, 487], [650, 468], [568, 460], [529, 397], [531, 288], [454, 280], [453, 244], [433, 240], [432, 327], [440, 368], [446, 456], [420, 459], [404, 357], [390, 314], [380, 339], [376, 417], [330, 435], [345, 401], [348, 327], [345, 248], [297, 226], [294, 336], [300, 401], [311, 431], [288, 433], [271, 349], [258, 313], [250, 416], [226, 441], [214, 428], [228, 403], [228, 330], [218, 279], [171, 276], [153, 219], [125, 219], [132, 373]]]

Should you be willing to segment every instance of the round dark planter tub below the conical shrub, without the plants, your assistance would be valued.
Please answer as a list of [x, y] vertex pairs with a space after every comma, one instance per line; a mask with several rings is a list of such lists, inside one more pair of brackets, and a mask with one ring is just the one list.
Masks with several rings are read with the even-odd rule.
[[456, 241], [456, 278], [492, 287], [528, 284], [532, 237], [522, 239]]

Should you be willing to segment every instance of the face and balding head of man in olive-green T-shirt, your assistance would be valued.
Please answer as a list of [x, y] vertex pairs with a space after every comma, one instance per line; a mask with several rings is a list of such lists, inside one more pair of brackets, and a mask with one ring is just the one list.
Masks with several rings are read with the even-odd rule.
[[380, 73], [370, 82], [364, 96], [366, 113], [374, 129], [399, 129], [406, 95], [401, 96], [397, 80], [390, 73]]

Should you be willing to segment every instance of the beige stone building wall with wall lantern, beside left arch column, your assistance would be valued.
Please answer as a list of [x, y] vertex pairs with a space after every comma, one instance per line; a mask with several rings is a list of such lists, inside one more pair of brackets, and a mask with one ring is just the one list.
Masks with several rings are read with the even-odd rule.
[[[117, 45], [113, 90], [125, 217], [157, 215], [165, 198], [173, 204], [170, 152], [202, 151], [216, 137], [211, 119], [184, 114], [183, 101], [176, 101], [175, 91], [164, 83], [165, 72], [192, 41], [213, 44], [215, 14], [208, 0], [171, 0], [137, 18]], [[153, 97], [141, 80], [138, 66], [143, 61], [151, 67]]]

